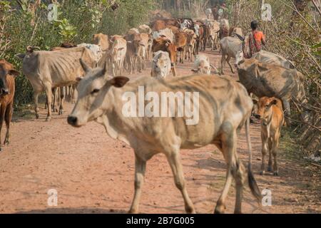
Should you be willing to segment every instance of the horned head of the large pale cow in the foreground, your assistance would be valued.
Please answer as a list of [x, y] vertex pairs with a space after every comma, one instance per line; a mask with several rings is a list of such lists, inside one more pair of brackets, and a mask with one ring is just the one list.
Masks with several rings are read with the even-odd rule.
[[80, 61], [86, 76], [78, 80], [78, 99], [68, 116], [68, 124], [77, 128], [106, 113], [114, 105], [111, 90], [121, 88], [129, 81], [126, 77], [107, 76], [107, 66], [93, 69]]

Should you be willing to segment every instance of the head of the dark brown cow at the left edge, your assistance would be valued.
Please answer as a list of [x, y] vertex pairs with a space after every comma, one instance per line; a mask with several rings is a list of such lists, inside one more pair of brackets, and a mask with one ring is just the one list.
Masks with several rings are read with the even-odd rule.
[[14, 70], [11, 63], [5, 60], [0, 60], [0, 96], [11, 93], [6, 83], [7, 76], [19, 76], [19, 72]]

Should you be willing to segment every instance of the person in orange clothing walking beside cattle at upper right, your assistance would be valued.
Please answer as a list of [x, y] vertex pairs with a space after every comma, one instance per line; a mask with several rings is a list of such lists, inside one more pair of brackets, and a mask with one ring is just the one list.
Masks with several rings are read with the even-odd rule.
[[249, 34], [249, 47], [250, 56], [245, 56], [245, 58], [251, 58], [255, 53], [262, 50], [262, 45], [265, 46], [265, 36], [262, 31], [258, 30], [258, 21], [251, 22], [252, 32]]

